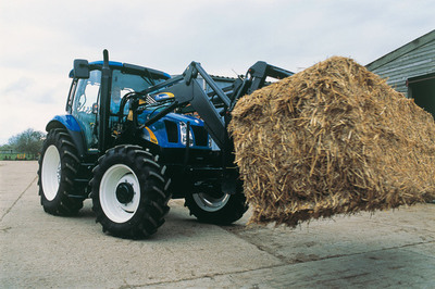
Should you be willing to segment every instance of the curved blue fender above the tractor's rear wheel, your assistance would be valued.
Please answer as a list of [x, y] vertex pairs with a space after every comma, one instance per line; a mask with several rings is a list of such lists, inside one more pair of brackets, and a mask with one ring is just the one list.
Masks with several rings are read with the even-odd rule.
[[47, 126], [46, 130], [50, 131], [54, 128], [65, 128], [73, 139], [74, 146], [77, 149], [80, 158], [85, 155], [86, 143], [84, 140], [83, 131], [77, 121], [72, 115], [57, 115], [51, 120]]

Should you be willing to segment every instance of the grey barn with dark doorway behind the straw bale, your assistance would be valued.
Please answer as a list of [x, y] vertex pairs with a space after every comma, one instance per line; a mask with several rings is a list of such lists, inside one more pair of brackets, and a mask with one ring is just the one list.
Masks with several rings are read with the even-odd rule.
[[366, 68], [435, 116], [435, 30], [373, 61]]

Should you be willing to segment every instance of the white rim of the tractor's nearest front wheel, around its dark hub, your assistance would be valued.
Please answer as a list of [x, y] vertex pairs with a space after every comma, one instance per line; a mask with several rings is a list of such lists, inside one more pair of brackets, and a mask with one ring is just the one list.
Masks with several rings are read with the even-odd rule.
[[[116, 188], [122, 183], [128, 183], [134, 189], [133, 199], [121, 203], [116, 197]], [[136, 213], [140, 202], [140, 185], [135, 173], [126, 165], [111, 166], [100, 183], [100, 203], [105, 216], [114, 223], [125, 223]]]

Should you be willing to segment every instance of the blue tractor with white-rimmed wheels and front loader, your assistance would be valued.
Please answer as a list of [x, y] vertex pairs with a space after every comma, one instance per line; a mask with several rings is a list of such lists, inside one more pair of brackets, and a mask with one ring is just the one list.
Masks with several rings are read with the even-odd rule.
[[[39, 160], [47, 213], [73, 215], [87, 198], [103, 231], [144, 238], [171, 198], [200, 222], [231, 224], [248, 205], [227, 134], [237, 100], [293, 73], [257, 62], [226, 87], [192, 62], [175, 77], [109, 61], [75, 60], [66, 114], [47, 125]], [[227, 79], [226, 79], [227, 80]]]

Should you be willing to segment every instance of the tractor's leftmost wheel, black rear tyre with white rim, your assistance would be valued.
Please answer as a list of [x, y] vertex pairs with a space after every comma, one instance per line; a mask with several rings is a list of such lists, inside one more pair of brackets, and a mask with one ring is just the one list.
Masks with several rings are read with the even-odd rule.
[[83, 208], [76, 194], [74, 179], [79, 159], [77, 150], [65, 129], [51, 129], [42, 144], [39, 159], [38, 185], [44, 210], [52, 215], [74, 215]]

